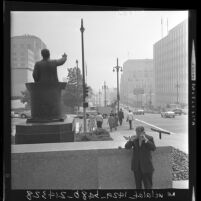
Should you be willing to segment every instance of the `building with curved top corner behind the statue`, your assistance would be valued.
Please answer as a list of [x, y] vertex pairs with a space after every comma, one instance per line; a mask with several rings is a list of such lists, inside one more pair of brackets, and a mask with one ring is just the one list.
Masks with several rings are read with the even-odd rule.
[[11, 97], [21, 96], [25, 83], [33, 82], [34, 64], [41, 60], [44, 48], [46, 44], [36, 36], [11, 37]]

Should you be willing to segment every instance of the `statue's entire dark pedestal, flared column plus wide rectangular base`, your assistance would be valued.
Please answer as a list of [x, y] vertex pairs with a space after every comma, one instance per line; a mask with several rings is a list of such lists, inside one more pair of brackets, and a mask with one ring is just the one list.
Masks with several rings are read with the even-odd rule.
[[16, 125], [16, 144], [73, 142], [72, 123], [61, 110], [66, 83], [26, 83], [31, 97], [31, 118]]

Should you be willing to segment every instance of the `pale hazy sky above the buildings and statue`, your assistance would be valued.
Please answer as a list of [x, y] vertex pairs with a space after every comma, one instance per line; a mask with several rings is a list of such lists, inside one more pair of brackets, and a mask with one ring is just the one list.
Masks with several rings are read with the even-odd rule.
[[[58, 67], [62, 81], [67, 69], [82, 69], [81, 19], [84, 31], [86, 81], [94, 91], [104, 85], [116, 87], [113, 67], [128, 59], [153, 59], [153, 45], [183, 20], [188, 11], [13, 11], [11, 37], [24, 34], [39, 37], [50, 50], [51, 59], [65, 52], [67, 62]], [[163, 19], [163, 26], [161, 25]], [[163, 28], [162, 28], [163, 27]], [[162, 31], [163, 30], [163, 31]], [[121, 76], [121, 73], [120, 73]]]

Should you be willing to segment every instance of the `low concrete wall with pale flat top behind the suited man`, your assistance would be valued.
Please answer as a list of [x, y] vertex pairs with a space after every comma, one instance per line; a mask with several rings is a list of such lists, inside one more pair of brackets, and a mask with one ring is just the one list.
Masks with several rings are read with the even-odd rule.
[[[101, 144], [13, 145], [12, 189], [135, 189], [132, 150], [86, 149], [86, 143]], [[69, 144], [80, 150], [69, 149]], [[170, 157], [171, 147], [157, 147], [153, 152], [154, 188], [172, 188]]]

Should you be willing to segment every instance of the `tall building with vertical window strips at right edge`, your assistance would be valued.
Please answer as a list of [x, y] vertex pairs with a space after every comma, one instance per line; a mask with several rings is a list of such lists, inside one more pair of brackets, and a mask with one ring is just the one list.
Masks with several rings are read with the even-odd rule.
[[175, 26], [153, 46], [155, 104], [188, 104], [188, 22]]

